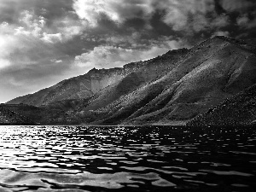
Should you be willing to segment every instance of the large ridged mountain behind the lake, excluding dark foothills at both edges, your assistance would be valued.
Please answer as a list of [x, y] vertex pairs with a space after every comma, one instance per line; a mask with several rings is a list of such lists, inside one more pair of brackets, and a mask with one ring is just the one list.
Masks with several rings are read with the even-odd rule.
[[8, 103], [58, 108], [78, 124], [184, 123], [256, 84], [255, 53], [253, 41], [215, 37], [149, 61], [92, 69]]

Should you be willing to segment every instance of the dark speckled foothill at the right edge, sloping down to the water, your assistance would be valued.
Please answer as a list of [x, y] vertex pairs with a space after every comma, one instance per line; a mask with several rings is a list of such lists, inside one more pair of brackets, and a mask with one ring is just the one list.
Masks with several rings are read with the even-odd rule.
[[187, 125], [256, 125], [256, 84], [198, 115]]

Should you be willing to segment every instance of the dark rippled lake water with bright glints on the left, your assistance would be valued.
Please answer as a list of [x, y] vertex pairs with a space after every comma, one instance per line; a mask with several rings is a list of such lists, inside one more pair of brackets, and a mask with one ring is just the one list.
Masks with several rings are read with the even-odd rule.
[[0, 191], [256, 191], [256, 128], [1, 126]]

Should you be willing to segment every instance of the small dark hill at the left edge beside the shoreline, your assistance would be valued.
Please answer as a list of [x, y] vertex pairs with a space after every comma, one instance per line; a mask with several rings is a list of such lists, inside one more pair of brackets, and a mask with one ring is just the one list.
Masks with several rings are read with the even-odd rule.
[[0, 105], [0, 125], [35, 125], [31, 119]]

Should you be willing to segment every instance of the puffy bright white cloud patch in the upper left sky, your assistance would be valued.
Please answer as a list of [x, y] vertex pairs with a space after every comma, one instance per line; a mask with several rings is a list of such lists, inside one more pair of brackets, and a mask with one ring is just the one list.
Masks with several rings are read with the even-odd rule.
[[53, 27], [49, 27], [44, 16], [24, 10], [20, 13], [20, 26], [15, 28], [15, 35], [33, 36], [49, 44], [66, 42], [81, 35], [86, 26], [84, 21], [75, 20], [74, 15], [74, 12], [69, 11], [61, 18], [50, 20]]

